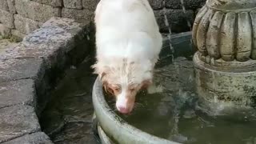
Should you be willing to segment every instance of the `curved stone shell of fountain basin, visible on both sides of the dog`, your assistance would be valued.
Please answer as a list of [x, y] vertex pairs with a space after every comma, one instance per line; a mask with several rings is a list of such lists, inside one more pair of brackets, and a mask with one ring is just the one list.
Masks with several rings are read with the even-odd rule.
[[[191, 33], [174, 34], [171, 37], [173, 44], [177, 42], [187, 41], [191, 37]], [[163, 42], [161, 58], [170, 56], [169, 40], [165, 39]], [[178, 50], [182, 53], [182, 50]], [[174, 56], [174, 55], [173, 55]], [[172, 59], [172, 58], [170, 58]], [[105, 96], [102, 90], [102, 82], [97, 78], [94, 82], [93, 88], [93, 104], [94, 104], [94, 132], [98, 133], [102, 143], [159, 143], [159, 144], [176, 144], [178, 142], [172, 142], [164, 138], [156, 137], [152, 134], [148, 134], [120, 118], [114, 110], [110, 108], [106, 102]]]

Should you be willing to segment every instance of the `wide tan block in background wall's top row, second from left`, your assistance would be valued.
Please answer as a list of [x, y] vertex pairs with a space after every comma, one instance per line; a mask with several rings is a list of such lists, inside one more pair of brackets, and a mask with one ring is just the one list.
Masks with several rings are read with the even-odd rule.
[[18, 14], [38, 22], [46, 22], [52, 17], [61, 16], [61, 8], [32, 2], [30, 0], [16, 0], [15, 6]]

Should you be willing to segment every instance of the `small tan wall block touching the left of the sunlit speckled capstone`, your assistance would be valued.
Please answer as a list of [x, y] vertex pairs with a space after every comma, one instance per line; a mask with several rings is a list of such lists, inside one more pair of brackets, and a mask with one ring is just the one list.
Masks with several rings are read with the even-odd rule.
[[30, 18], [23, 18], [21, 15], [14, 14], [14, 25], [22, 34], [30, 34], [39, 28], [39, 22]]

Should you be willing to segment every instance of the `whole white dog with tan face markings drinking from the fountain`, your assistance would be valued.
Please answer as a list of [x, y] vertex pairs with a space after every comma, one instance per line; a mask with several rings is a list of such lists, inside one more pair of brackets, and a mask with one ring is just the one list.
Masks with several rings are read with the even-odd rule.
[[147, 0], [101, 0], [95, 11], [97, 63], [105, 89], [122, 114], [134, 108], [138, 90], [152, 83], [162, 49], [154, 12]]

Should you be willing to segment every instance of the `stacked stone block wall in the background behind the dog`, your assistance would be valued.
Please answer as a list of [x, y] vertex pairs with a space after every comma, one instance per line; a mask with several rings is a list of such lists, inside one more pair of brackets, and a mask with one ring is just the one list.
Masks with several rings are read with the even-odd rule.
[[[183, 0], [186, 8], [184, 13], [181, 0], [149, 1], [162, 33], [168, 33], [166, 19], [174, 33], [190, 30], [187, 20], [192, 24], [196, 11], [205, 2]], [[78, 22], [90, 21], [98, 2], [99, 0], [0, 0], [0, 34], [13, 34], [22, 38], [52, 17], [74, 18]]]

